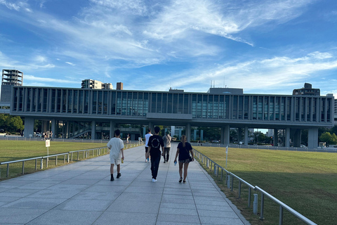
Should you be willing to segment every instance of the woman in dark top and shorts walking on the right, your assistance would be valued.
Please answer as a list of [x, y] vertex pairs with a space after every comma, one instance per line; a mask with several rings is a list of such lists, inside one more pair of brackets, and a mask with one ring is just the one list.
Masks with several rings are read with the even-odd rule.
[[[190, 155], [191, 153], [191, 155]], [[179, 183], [183, 181], [183, 183], [186, 183], [186, 177], [187, 177], [187, 168], [188, 164], [192, 161], [194, 161], [194, 155], [192, 151], [192, 146], [190, 143], [186, 142], [186, 136], [181, 136], [181, 142], [178, 143], [176, 158], [174, 159], [174, 162], [177, 162], [177, 157], [179, 155], [178, 161], [179, 161]], [[183, 180], [183, 167], [184, 167], [184, 180]]]

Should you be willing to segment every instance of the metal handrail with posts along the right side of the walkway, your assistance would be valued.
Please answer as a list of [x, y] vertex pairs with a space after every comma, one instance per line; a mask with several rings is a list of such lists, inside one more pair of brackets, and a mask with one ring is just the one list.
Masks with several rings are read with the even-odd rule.
[[[309, 225], [317, 225], [315, 224], [315, 222], [311, 221], [310, 219], [308, 219], [307, 217], [304, 217], [302, 214], [300, 214], [299, 212], [297, 212], [296, 210], [293, 210], [293, 208], [289, 207], [288, 205], [282, 203], [282, 201], [278, 200], [277, 198], [275, 198], [274, 196], [270, 195], [270, 193], [267, 193], [266, 191], [264, 191], [262, 188], [259, 188], [258, 186], [253, 186], [251, 184], [249, 184], [247, 181], [244, 181], [244, 179], [240, 178], [239, 176], [233, 174], [232, 172], [229, 172], [227, 171], [227, 169], [224, 169], [223, 167], [221, 167], [220, 165], [218, 165], [216, 162], [214, 162], [213, 160], [211, 160], [210, 158], [208, 158], [206, 155], [202, 154], [202, 153], [199, 153], [197, 150], [195, 150], [193, 148], [193, 151], [194, 151], [194, 155], [197, 156], [197, 155], [201, 155], [203, 158], [201, 158], [201, 162], [205, 163], [204, 162], [204, 158], [206, 158], [206, 167], [210, 168], [211, 171], [212, 171], [212, 167], [209, 167], [209, 162], [211, 162], [211, 164], [213, 163], [214, 164], [214, 168], [215, 167], [218, 167], [221, 170], [221, 181], [223, 180], [223, 177], [222, 177], [222, 172], [223, 170], [227, 173], [227, 174], [230, 174], [232, 176], [232, 179], [233, 177], [235, 177], [236, 179], [239, 179], [240, 181], [240, 184], [239, 184], [239, 196], [241, 194], [241, 182], [243, 182], [244, 184], [246, 184], [248, 187], [249, 187], [249, 207], [251, 205], [251, 189], [255, 190], [255, 191], [260, 191], [261, 193], [261, 207], [260, 207], [260, 219], [263, 220], [263, 207], [264, 207], [264, 195], [266, 195], [268, 198], [270, 198], [272, 201], [274, 201], [275, 203], [277, 203], [279, 205], [279, 225], [282, 225], [283, 224], [283, 210], [286, 209], [288, 212], [290, 212], [291, 214], [293, 214], [295, 217], [297, 217], [298, 219], [304, 221], [306, 224], [309, 224]], [[198, 153], [198, 154], [195, 154], [195, 153]], [[199, 158], [199, 157], [198, 157]], [[215, 171], [215, 169], [214, 169]], [[217, 174], [218, 175], [218, 174]], [[228, 182], [227, 181], [227, 176], [226, 176], [226, 183]], [[231, 182], [233, 183], [233, 181]], [[228, 184], [228, 183], [227, 183]], [[229, 186], [227, 186], [228, 188], [230, 188]], [[232, 184], [232, 191], [233, 191], [233, 184]], [[240, 197], [239, 197], [240, 198]]]

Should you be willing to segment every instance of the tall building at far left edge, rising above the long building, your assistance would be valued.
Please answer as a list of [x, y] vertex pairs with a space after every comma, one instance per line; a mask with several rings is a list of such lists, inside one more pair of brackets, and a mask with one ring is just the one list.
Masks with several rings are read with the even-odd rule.
[[2, 70], [1, 102], [11, 102], [12, 86], [22, 86], [23, 72], [19, 70]]

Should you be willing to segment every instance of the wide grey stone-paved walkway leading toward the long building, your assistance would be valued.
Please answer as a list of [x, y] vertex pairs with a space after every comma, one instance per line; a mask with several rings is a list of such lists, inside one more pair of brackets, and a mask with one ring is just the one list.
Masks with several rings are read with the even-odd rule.
[[179, 184], [175, 154], [157, 183], [144, 146], [125, 150], [114, 181], [108, 155], [1, 181], [0, 224], [249, 224], [199, 163]]

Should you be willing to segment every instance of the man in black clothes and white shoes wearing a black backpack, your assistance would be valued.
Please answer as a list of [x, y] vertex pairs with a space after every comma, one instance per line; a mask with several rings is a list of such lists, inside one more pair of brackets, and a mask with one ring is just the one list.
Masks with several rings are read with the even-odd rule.
[[[151, 156], [151, 172], [152, 172], [152, 182], [157, 182], [157, 174], [159, 169], [160, 155], [164, 155], [164, 141], [159, 136], [159, 127], [154, 127], [154, 135], [150, 136], [148, 142], [147, 157]], [[160, 147], [162, 154], [160, 154]]]

